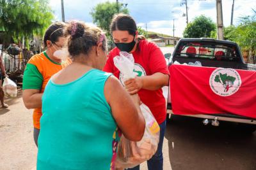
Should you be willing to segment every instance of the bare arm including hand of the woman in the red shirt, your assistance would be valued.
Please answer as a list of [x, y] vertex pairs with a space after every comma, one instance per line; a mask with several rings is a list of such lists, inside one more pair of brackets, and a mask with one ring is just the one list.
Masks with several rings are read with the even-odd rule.
[[130, 94], [136, 94], [140, 89], [158, 90], [169, 84], [169, 75], [154, 73], [150, 76], [136, 76], [125, 81], [125, 88]]

